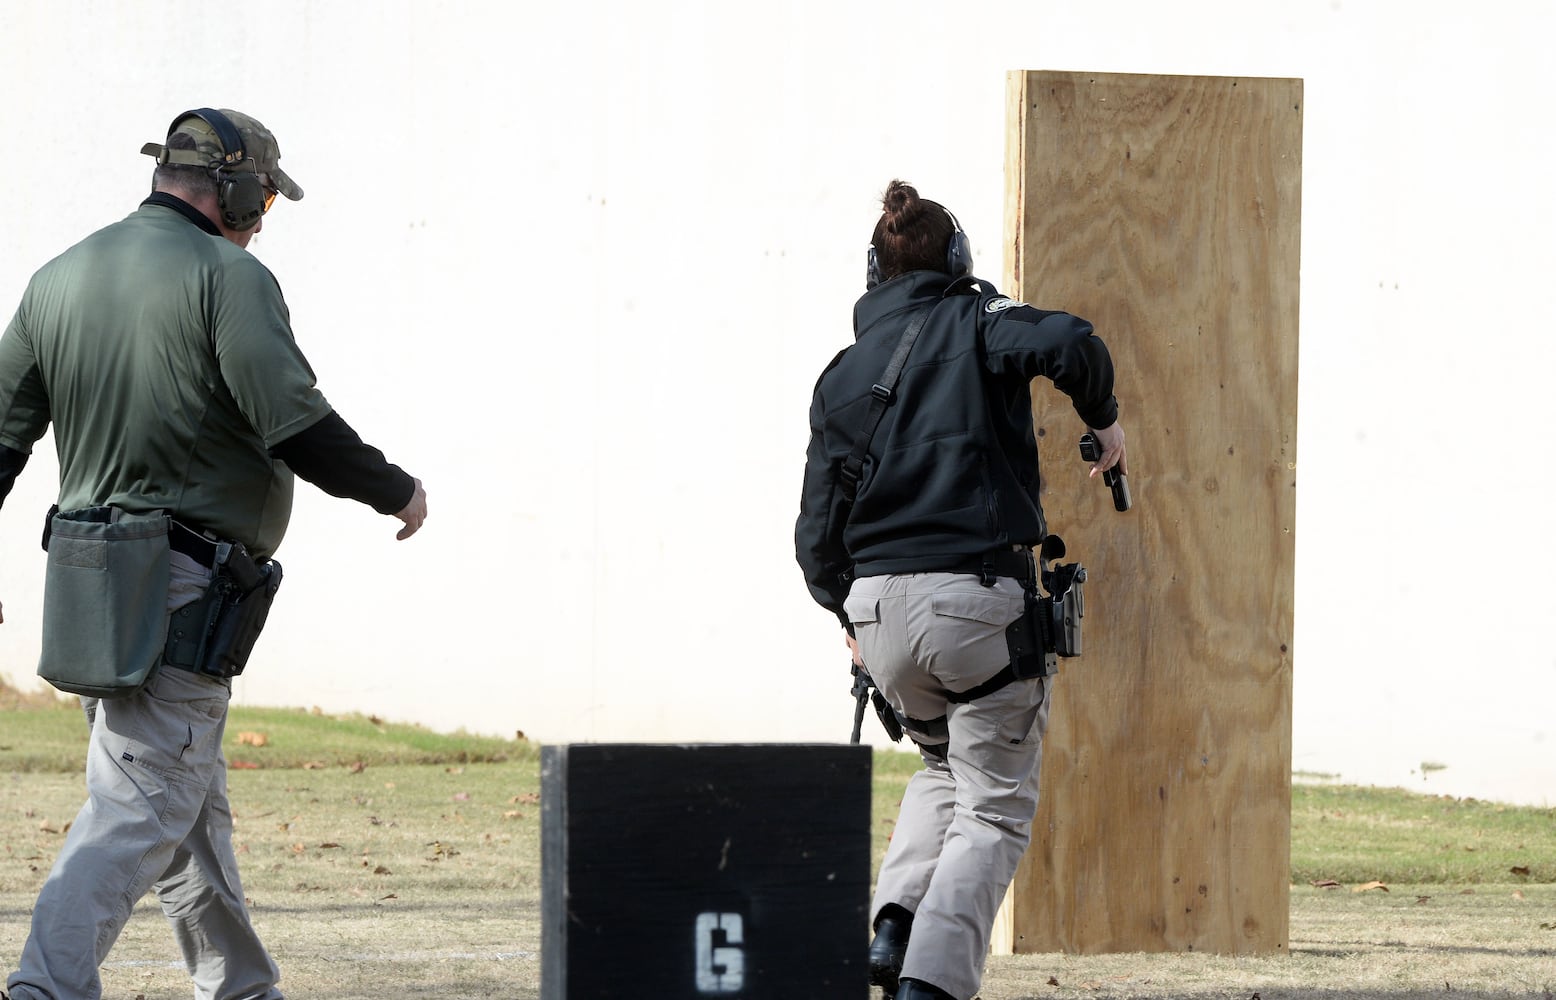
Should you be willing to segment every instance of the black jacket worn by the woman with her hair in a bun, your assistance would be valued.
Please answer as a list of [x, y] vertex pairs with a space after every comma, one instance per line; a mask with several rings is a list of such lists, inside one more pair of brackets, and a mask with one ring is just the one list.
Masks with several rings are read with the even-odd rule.
[[[870, 409], [870, 387], [926, 308], [934, 311], [870, 442], [850, 509], [840, 470]], [[987, 281], [898, 275], [854, 305], [854, 339], [815, 383], [795, 526], [811, 594], [843, 625], [845, 574], [946, 571], [1043, 541], [1033, 378], [1052, 379], [1086, 426], [1119, 417], [1113, 359], [1091, 323], [1015, 302]]]

